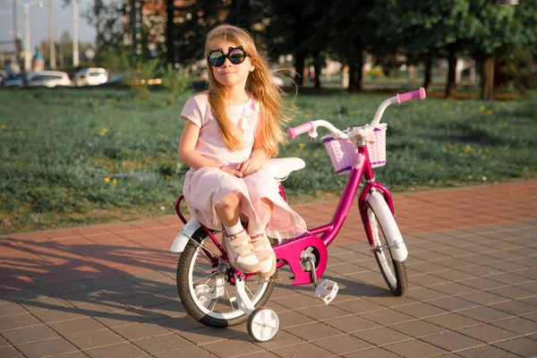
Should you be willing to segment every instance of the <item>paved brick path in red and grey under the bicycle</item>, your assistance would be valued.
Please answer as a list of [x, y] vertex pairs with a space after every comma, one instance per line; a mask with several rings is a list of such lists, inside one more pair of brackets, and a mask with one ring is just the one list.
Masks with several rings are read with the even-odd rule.
[[[185, 313], [167, 251], [177, 217], [0, 236], [0, 357], [537, 357], [537, 181], [394, 200], [408, 294], [388, 294], [352, 212], [324, 275], [337, 299], [277, 286], [266, 343]], [[296, 209], [319, 226], [335, 206]]]

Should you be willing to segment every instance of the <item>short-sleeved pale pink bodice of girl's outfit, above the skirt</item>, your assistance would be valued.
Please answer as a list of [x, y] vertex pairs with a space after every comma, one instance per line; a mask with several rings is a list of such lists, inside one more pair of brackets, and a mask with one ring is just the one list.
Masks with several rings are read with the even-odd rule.
[[189, 98], [181, 112], [184, 120], [191, 121], [192, 124], [200, 127], [196, 151], [219, 163], [233, 165], [250, 158], [255, 133], [260, 122], [260, 103], [251, 95], [245, 104], [227, 107], [227, 115], [243, 140], [243, 149], [227, 148], [217, 118], [209, 106], [207, 92]]

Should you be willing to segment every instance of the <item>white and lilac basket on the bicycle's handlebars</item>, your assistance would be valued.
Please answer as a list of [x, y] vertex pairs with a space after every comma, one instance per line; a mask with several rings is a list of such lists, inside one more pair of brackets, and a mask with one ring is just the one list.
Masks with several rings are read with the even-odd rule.
[[[386, 164], [386, 125], [373, 130], [375, 141], [367, 144], [371, 167], [376, 168]], [[345, 175], [356, 165], [358, 149], [349, 140], [332, 138], [331, 135], [321, 139], [328, 150], [328, 156], [332, 161], [337, 175]]]

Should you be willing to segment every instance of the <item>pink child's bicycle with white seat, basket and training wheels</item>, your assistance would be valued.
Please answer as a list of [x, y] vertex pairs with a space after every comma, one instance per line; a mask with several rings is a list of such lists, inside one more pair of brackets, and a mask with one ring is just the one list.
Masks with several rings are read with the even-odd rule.
[[[414, 98], [425, 98], [425, 90], [414, 90], [383, 101], [371, 124], [340, 131], [327, 121], [312, 121], [289, 128], [290, 139], [304, 132], [317, 138], [317, 128], [324, 127], [331, 134], [322, 138], [338, 174], [349, 174], [345, 189], [332, 221], [309, 229], [294, 239], [282, 241], [277, 232], [268, 231], [277, 256], [277, 268], [287, 266], [291, 277], [259, 280], [255, 274], [233, 268], [226, 251], [215, 234], [192, 218], [186, 220], [181, 213], [183, 195], [175, 203], [175, 211], [183, 221], [171, 251], [181, 252], [177, 264], [177, 291], [185, 310], [194, 320], [210, 327], [234, 326], [248, 320], [248, 331], [257, 341], [268, 341], [277, 334], [277, 313], [267, 307], [277, 281], [292, 279], [292, 285], [313, 284], [314, 296], [330, 303], [337, 294], [337, 283], [318, 281], [327, 268], [328, 245], [334, 241], [345, 222], [362, 177], [365, 183], [358, 195], [358, 208], [371, 251], [379, 263], [380, 272], [390, 291], [401, 296], [408, 283], [405, 260], [408, 256], [405, 242], [397, 227], [394, 206], [388, 189], [375, 181], [373, 168], [386, 163], [386, 124], [380, 124], [385, 109], [395, 103]], [[281, 184], [294, 170], [302, 169], [300, 158], [269, 159], [265, 169], [280, 182], [280, 194], [286, 195]]]

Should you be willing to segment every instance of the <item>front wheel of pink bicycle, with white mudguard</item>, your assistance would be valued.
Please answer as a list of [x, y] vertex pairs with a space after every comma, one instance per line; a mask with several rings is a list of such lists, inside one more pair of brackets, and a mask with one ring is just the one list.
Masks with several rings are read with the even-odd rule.
[[[367, 216], [371, 226], [373, 252], [375, 259], [379, 263], [380, 272], [392, 294], [402, 296], [408, 288], [405, 262], [397, 262], [393, 259], [389, 246], [389, 243], [393, 242], [393, 240], [388, 240], [385, 234], [392, 232], [394, 228], [398, 232], [396, 219], [393, 217], [385, 200], [377, 200], [374, 207], [368, 202]], [[383, 217], [382, 222], [386, 227], [383, 227], [379, 217]], [[392, 230], [388, 230], [388, 226], [391, 226]]]

